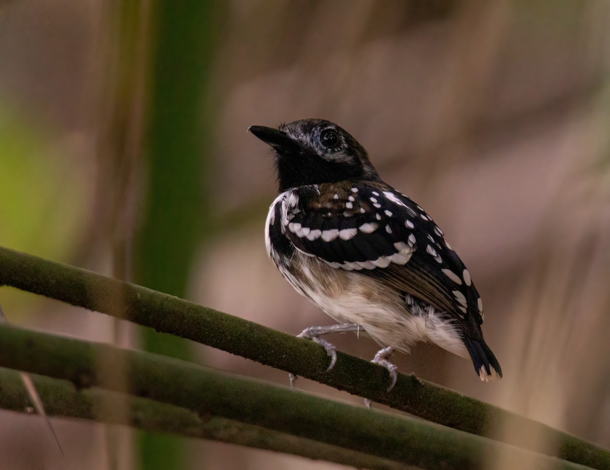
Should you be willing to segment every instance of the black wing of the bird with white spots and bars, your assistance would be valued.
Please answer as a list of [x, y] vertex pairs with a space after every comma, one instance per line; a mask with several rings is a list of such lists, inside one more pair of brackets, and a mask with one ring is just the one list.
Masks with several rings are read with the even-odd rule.
[[[383, 183], [300, 188], [286, 236], [334, 268], [384, 279], [460, 320], [483, 322], [470, 273], [420, 206]], [[468, 321], [465, 321], [468, 323]]]

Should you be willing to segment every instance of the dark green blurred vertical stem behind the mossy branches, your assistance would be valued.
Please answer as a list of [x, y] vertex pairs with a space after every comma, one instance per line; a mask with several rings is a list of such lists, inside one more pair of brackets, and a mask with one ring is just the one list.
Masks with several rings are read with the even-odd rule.
[[[204, 98], [213, 50], [213, 4], [154, 2], [151, 12], [151, 87], [145, 130], [148, 193], [134, 244], [134, 280], [184, 297], [202, 234], [206, 203]], [[148, 351], [188, 359], [185, 340], [142, 331]], [[180, 468], [177, 438], [142, 436], [142, 468]]]

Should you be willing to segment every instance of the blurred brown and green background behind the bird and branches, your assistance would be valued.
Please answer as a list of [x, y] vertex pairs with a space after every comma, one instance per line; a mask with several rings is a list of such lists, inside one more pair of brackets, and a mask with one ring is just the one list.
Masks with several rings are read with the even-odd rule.
[[[246, 133], [329, 119], [464, 259], [504, 379], [481, 384], [470, 362], [428, 345], [396, 357], [400, 370], [610, 447], [610, 4], [195, 4], [0, 2], [0, 245], [293, 334], [332, 323], [267, 259], [276, 183], [268, 149]], [[26, 293], [4, 289], [0, 302], [16, 324], [166, 347]], [[377, 349], [330, 339], [360, 357]], [[287, 383], [222, 351], [167, 348]], [[305, 379], [298, 387], [361, 404]], [[131, 431], [52, 422], [66, 468], [157, 468]], [[175, 468], [339, 468], [213, 442], [171, 446]], [[62, 468], [40, 419], [1, 411], [0, 460]]]

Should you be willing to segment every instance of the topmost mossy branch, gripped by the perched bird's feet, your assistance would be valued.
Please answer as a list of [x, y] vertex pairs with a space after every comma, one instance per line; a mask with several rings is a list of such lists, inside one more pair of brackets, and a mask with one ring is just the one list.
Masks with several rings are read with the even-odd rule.
[[538, 435], [556, 443], [559, 458], [610, 468], [610, 452], [544, 424], [403, 374], [388, 393], [387, 371], [377, 365], [338, 353], [337, 365], [327, 372], [328, 356], [313, 342], [145, 287], [7, 248], [0, 248], [2, 285], [223, 349], [454, 429], [477, 435], [492, 435], [501, 426], [519, 429], [501, 439], [549, 452], [529, 438]]

